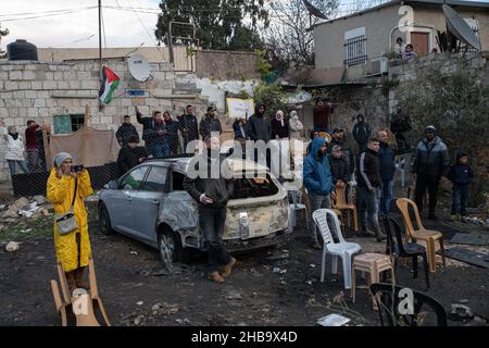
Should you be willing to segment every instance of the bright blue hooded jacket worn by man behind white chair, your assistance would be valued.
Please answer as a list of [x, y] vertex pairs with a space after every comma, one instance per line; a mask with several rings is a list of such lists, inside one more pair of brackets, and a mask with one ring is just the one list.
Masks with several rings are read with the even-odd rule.
[[311, 153], [304, 160], [303, 182], [310, 194], [329, 195], [335, 189], [328, 157], [318, 154], [325, 142], [324, 138], [315, 137], [311, 142]]

